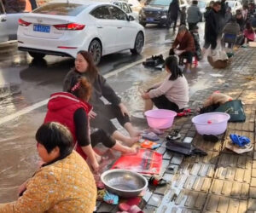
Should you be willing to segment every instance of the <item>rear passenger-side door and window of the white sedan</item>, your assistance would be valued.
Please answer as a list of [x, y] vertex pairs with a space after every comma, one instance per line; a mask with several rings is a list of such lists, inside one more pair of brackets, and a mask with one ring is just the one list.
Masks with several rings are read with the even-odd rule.
[[118, 29], [113, 23], [113, 17], [109, 12], [108, 5], [99, 6], [92, 10], [90, 14], [96, 20], [97, 32], [102, 40], [103, 55], [115, 52]]

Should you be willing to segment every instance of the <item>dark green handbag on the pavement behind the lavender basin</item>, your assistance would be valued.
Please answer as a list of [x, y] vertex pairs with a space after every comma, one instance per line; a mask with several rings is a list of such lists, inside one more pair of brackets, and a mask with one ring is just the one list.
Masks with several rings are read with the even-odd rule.
[[230, 122], [244, 122], [246, 120], [241, 100], [227, 101], [215, 109], [214, 112], [225, 112], [230, 114]]

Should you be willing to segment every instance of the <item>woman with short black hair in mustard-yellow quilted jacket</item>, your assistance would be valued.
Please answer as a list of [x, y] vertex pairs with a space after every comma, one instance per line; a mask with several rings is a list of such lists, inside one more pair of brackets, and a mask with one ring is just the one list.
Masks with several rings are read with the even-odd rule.
[[37, 131], [41, 168], [20, 186], [20, 198], [0, 204], [0, 212], [93, 212], [96, 183], [83, 158], [73, 151], [73, 137], [58, 123]]

